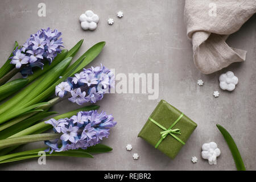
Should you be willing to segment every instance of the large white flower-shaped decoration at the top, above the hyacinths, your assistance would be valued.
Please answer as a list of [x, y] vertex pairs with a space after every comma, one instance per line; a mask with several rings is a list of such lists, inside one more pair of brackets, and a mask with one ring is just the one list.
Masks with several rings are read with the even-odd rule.
[[93, 11], [87, 10], [84, 14], [81, 14], [79, 20], [83, 30], [95, 30], [100, 18], [98, 18], [98, 15], [94, 14]]

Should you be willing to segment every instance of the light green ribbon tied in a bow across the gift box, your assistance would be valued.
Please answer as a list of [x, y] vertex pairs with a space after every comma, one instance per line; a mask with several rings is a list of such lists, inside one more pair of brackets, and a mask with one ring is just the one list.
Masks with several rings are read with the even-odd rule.
[[159, 144], [163, 141], [164, 138], [167, 137], [168, 134], [170, 134], [172, 137], [174, 137], [176, 140], [178, 140], [181, 144], [185, 144], [185, 142], [183, 142], [183, 140], [179, 139], [178, 137], [176, 137], [174, 134], [177, 135], [181, 135], [180, 133], [180, 129], [174, 129], [172, 130], [172, 127], [174, 127], [174, 125], [176, 125], [176, 123], [178, 121], [180, 121], [180, 119], [183, 117], [183, 113], [180, 114], [180, 117], [176, 119], [176, 121], [174, 123], [172, 123], [172, 125], [166, 129], [165, 127], [163, 127], [162, 125], [160, 125], [158, 122], [156, 122], [154, 119], [152, 118], [148, 118], [151, 122], [155, 123], [155, 125], [159, 126], [161, 129], [163, 129], [164, 131], [160, 132], [161, 134], [161, 138], [158, 141], [158, 143], [156, 143], [155, 148], [158, 148]]

